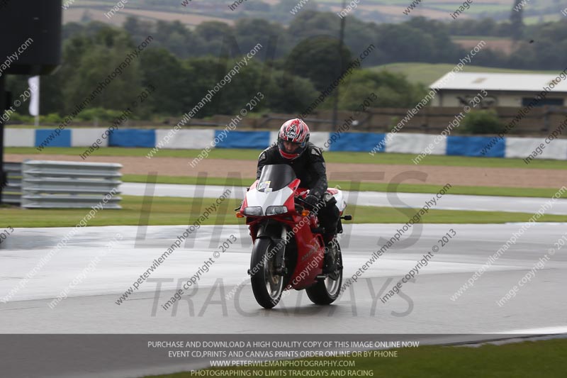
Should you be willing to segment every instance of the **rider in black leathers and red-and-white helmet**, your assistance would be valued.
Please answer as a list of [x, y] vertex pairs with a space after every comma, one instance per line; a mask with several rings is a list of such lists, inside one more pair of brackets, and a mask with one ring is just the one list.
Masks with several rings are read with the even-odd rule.
[[[322, 150], [309, 141], [309, 127], [299, 118], [283, 123], [278, 133], [276, 145], [266, 148], [258, 157], [256, 179], [260, 178], [264, 165], [286, 164], [293, 168], [296, 177], [301, 180], [300, 187], [308, 188], [305, 201], [318, 210], [320, 226], [325, 228], [323, 239], [325, 260], [323, 273], [328, 274], [337, 269], [328, 253], [337, 235], [339, 209], [335, 197], [327, 193], [327, 172]], [[326, 194], [327, 193], [327, 194]], [[326, 195], [325, 195], [326, 194]]]

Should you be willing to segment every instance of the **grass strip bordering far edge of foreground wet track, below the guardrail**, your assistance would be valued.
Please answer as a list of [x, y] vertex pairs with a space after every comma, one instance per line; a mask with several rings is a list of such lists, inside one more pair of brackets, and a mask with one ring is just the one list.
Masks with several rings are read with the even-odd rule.
[[[121, 210], [103, 210], [88, 222], [89, 226], [137, 226], [142, 216], [142, 196], [123, 196]], [[148, 224], [151, 226], [184, 225], [194, 223], [215, 199], [155, 197]], [[203, 224], [244, 224], [235, 217], [240, 200], [223, 202], [223, 208], [215, 212]], [[88, 209], [0, 209], [3, 223], [11, 227], [74, 227], [88, 213]], [[400, 209], [378, 206], [349, 205], [347, 213], [354, 216], [354, 223], [406, 223], [416, 209]], [[525, 222], [531, 213], [506, 213], [502, 211], [430, 210], [422, 223], [507, 223]], [[567, 222], [567, 215], [544, 215], [540, 222]]]

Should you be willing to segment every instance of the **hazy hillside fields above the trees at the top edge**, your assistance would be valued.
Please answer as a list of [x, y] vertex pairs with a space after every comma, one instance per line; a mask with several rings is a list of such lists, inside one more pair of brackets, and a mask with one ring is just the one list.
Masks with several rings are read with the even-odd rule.
[[[65, 22], [79, 21], [84, 17], [85, 11], [91, 12], [88, 16], [98, 21], [108, 21], [99, 17], [101, 10], [108, 10], [117, 4], [115, 0], [63, 1], [64, 3], [68, 2], [71, 4], [67, 10], [68, 14], [67, 18], [65, 18]], [[111, 22], [117, 23], [118, 21], [123, 21], [122, 16], [126, 13], [130, 13], [130, 15], [145, 19], [164, 21], [179, 20], [182, 23], [190, 25], [196, 25], [203, 21], [211, 20], [208, 18], [188, 19], [184, 16], [192, 15], [220, 18], [218, 21], [232, 21], [237, 18], [255, 16], [287, 23], [293, 18], [289, 11], [299, 3], [298, 0], [254, 0], [254, 4], [252, 4], [252, 1], [242, 2], [238, 7], [238, 11], [231, 11], [228, 5], [232, 2], [232, 0], [194, 0], [187, 2], [186, 6], [182, 6], [181, 0], [129, 0], [128, 3], [125, 4], [125, 10], [120, 11], [120, 13], [123, 14], [119, 16], [118, 19], [113, 19]], [[347, 4], [350, 3], [351, 1], [347, 1]], [[342, 0], [310, 0], [305, 1], [304, 4], [305, 6], [301, 6], [300, 8], [301, 11], [305, 11], [306, 9], [318, 9], [319, 11], [331, 11], [335, 13], [339, 11]], [[421, 1], [415, 6], [415, 9], [410, 9], [408, 14], [404, 14], [403, 11], [406, 11], [410, 4], [412, 4], [412, 0], [364, 0], [361, 2], [360, 6], [357, 6], [357, 9], [352, 11], [352, 15], [364, 19], [365, 21], [378, 23], [397, 23], [407, 20], [410, 16], [425, 16], [427, 18], [447, 20], [449, 13], [459, 9], [463, 1]], [[476, 1], [466, 9], [464, 18], [478, 19], [490, 17], [498, 21], [505, 21], [510, 17], [512, 4], [512, 0]], [[524, 6], [524, 17], [527, 18], [527, 23], [549, 21], [551, 18], [556, 20], [560, 9], [562, 9], [562, 7], [560, 8], [556, 0], [532, 0]], [[142, 11], [142, 13], [139, 11]]]

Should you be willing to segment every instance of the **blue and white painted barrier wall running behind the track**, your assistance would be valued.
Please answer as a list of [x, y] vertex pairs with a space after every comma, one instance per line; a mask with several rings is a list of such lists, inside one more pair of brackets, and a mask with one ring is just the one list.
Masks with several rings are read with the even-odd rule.
[[[53, 140], [50, 146], [83, 146], [88, 147], [101, 134], [101, 128], [94, 129], [64, 130], [57, 140]], [[6, 147], [32, 147], [37, 141], [42, 142], [52, 130], [33, 130], [6, 128]], [[162, 139], [170, 129], [147, 130], [128, 129], [115, 130], [111, 134], [108, 145], [113, 147], [141, 147], [141, 148], [191, 148], [201, 150], [215, 145], [216, 148], [250, 148], [261, 150], [273, 143], [276, 138], [274, 131], [242, 131], [233, 130], [224, 133], [223, 130], [193, 129], [179, 130], [170, 138], [168, 143], [162, 143]], [[84, 133], [74, 135], [75, 133]], [[86, 135], [91, 135], [87, 138]], [[221, 136], [222, 135], [222, 136]], [[435, 140], [439, 135], [397, 133], [388, 140], [388, 134], [384, 133], [328, 133], [314, 132], [311, 140], [324, 150], [331, 151], [360, 151], [371, 152], [398, 152], [418, 155], [425, 147]], [[222, 139], [222, 140], [221, 140]], [[334, 140], [333, 140], [334, 139]], [[484, 157], [527, 157], [533, 148], [544, 143], [545, 138], [504, 138], [497, 139], [492, 147], [487, 148], [493, 137], [484, 136], [449, 136], [434, 146], [434, 155], [460, 155], [460, 156], [484, 156]], [[331, 140], [331, 143], [327, 141]], [[89, 143], [90, 142], [90, 143]], [[160, 145], [162, 143], [162, 145]], [[329, 146], [326, 147], [325, 143]], [[483, 155], [484, 150], [484, 155]], [[544, 153], [539, 159], [567, 160], [567, 140], [556, 139], [546, 144]]]

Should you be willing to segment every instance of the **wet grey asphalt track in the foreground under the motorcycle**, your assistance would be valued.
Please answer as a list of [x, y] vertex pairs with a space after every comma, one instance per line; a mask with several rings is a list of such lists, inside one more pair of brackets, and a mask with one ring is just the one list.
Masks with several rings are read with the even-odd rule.
[[[498, 333], [527, 328], [567, 326], [565, 250], [558, 250], [534, 270], [534, 277], [503, 306], [496, 301], [554, 248], [566, 231], [561, 223], [529, 228], [515, 245], [486, 268], [473, 287], [456, 300], [451, 296], [466, 284], [491, 255], [517, 233], [520, 224], [425, 225], [417, 243], [386, 251], [332, 306], [314, 306], [303, 291], [284, 296], [271, 311], [259, 308], [249, 286], [251, 245], [245, 227], [203, 226], [190, 248], [176, 250], [151, 273], [127, 301], [120, 294], [162, 255], [183, 226], [150, 226], [135, 246], [133, 226], [89, 227], [59, 250], [23, 289], [0, 303], [1, 333]], [[354, 225], [342, 240], [344, 277], [350, 277], [378, 249], [378, 235], [391, 238], [399, 225]], [[453, 228], [456, 236], [421, 267], [415, 282], [383, 303], [398, 280]], [[0, 294], [6, 296], [30, 269], [68, 232], [66, 228], [17, 228], [0, 250]], [[213, 231], [214, 230], [214, 231]], [[416, 228], [417, 230], [417, 228]], [[198, 279], [181, 301], [164, 310], [174, 290], [196, 274], [205, 260], [230, 235], [238, 240]], [[408, 231], [409, 233], [410, 231]], [[105, 245], [120, 234], [122, 240]], [[242, 245], [245, 240], [245, 245]], [[407, 242], [405, 242], [407, 243]], [[398, 245], [402, 245], [400, 240]], [[106, 252], [104, 252], [107, 250]], [[101, 253], [93, 272], [69, 291], [69, 297], [48, 304]], [[227, 294], [245, 282], [234, 298]], [[160, 290], [157, 288], [161, 285]], [[1, 299], [0, 297], [0, 299]]]

